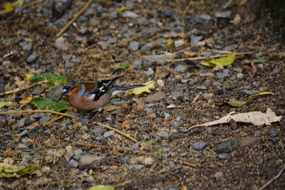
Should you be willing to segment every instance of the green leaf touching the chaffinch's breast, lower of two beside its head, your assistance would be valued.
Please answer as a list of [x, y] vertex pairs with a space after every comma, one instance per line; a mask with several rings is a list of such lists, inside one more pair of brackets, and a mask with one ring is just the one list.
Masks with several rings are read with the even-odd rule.
[[73, 108], [67, 102], [55, 102], [46, 97], [36, 97], [31, 101], [39, 110], [51, 110], [60, 112], [61, 110], [72, 110]]

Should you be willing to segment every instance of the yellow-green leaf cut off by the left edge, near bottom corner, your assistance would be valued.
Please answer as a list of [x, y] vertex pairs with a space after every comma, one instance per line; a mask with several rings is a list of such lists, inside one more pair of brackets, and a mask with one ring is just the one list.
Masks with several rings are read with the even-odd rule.
[[35, 169], [36, 167], [33, 165], [19, 168], [12, 164], [0, 163], [0, 178], [19, 177], [25, 174], [31, 174]]

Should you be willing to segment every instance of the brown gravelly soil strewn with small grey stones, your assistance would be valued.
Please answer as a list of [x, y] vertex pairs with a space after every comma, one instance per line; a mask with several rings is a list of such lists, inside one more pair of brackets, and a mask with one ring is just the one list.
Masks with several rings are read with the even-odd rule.
[[[76, 81], [123, 75], [117, 85], [157, 83], [151, 93], [116, 95], [110, 105], [121, 109], [103, 110], [96, 118], [138, 142], [90, 124], [93, 115], [77, 110], [68, 112], [77, 117], [63, 117], [48, 126], [43, 124], [58, 115], [0, 115], [0, 162], [37, 167], [19, 178], [1, 178], [0, 189], [88, 189], [128, 180], [132, 181], [118, 189], [259, 189], [281, 171], [285, 164], [284, 36], [269, 12], [257, 17], [254, 4], [240, 1], [225, 9], [226, 1], [93, 1], [56, 37], [87, 3], [60, 2], [26, 1], [24, 8], [0, 16], [1, 92], [29, 85], [26, 74], [38, 73]], [[200, 60], [177, 60], [222, 51], [250, 54], [236, 56], [224, 68], [208, 68]], [[175, 56], [163, 61], [163, 55], [170, 53]], [[144, 57], [155, 55], [162, 58]], [[261, 63], [254, 63], [257, 59]], [[113, 72], [120, 64], [130, 67]], [[52, 88], [43, 84], [1, 95], [0, 102], [14, 102], [1, 107], [1, 112], [37, 110], [30, 104], [19, 109], [19, 102], [24, 97], [46, 97]], [[154, 100], [157, 91], [165, 94]], [[250, 95], [265, 91], [274, 95], [249, 100]], [[242, 107], [217, 104], [229, 100], [249, 102]], [[267, 108], [283, 116], [281, 121], [188, 130], [229, 112], [266, 112]], [[285, 172], [266, 189], [285, 189]]]

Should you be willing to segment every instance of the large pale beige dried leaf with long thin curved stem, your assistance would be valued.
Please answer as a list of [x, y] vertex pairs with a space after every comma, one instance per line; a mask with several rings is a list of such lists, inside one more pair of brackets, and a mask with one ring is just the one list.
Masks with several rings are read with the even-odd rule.
[[273, 112], [270, 108], [267, 108], [266, 113], [245, 112], [245, 113], [238, 113], [234, 115], [232, 115], [232, 113], [229, 113], [228, 115], [222, 117], [219, 120], [203, 123], [201, 125], [194, 125], [190, 127], [188, 130], [192, 130], [195, 127], [207, 127], [211, 125], [229, 123], [229, 120], [232, 120], [232, 119], [235, 120], [236, 122], [250, 122], [256, 126], [271, 125], [271, 122], [279, 122], [281, 118], [282, 116], [276, 116], [275, 112]]

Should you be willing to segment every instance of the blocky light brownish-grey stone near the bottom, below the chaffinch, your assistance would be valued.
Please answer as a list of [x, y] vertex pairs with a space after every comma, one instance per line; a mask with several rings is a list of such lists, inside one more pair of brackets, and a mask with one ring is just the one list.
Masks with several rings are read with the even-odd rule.
[[95, 155], [81, 155], [79, 160], [80, 169], [93, 169], [95, 167], [107, 164], [110, 161], [110, 157], [97, 157]]

